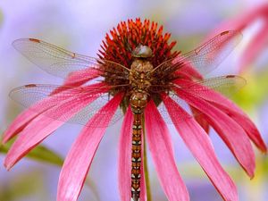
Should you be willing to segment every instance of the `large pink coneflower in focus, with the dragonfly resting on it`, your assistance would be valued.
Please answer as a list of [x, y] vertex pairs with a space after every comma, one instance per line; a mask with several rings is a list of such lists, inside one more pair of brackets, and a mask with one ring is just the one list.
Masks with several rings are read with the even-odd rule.
[[[121, 22], [111, 31], [112, 38], [106, 36], [101, 59], [73, 54], [38, 39], [15, 41], [14, 46], [30, 61], [67, 79], [63, 86], [30, 84], [12, 91], [13, 98], [30, 106], [4, 133], [4, 142], [18, 135], [5, 158], [5, 167], [11, 169], [64, 121], [84, 123], [63, 164], [57, 195], [58, 201], [77, 200], [107, 126], [124, 113], [118, 168], [121, 200], [147, 199], [141, 146], [146, 134], [166, 197], [170, 201], [188, 201], [165, 124], [169, 120], [163, 119], [163, 115], [169, 115], [222, 198], [239, 200], [235, 184], [214, 153], [206, 134], [208, 127], [218, 132], [250, 178], [255, 172], [250, 140], [263, 152], [266, 146], [247, 114], [214, 91], [229, 91], [229, 87], [243, 85], [244, 80], [234, 75], [203, 80], [204, 74], [230, 53], [239, 32], [224, 31], [184, 55], [172, 53], [175, 42], [169, 44], [171, 35], [162, 32], [163, 27], [157, 29], [154, 22]], [[96, 78], [103, 80], [92, 84]], [[195, 118], [182, 103], [190, 105]], [[146, 130], [142, 130], [143, 119]]]

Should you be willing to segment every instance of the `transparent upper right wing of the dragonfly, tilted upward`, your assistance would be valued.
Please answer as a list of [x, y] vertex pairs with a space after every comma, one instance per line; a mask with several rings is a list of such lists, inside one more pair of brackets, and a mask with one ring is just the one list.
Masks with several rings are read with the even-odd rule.
[[163, 71], [173, 72], [192, 67], [201, 75], [213, 71], [237, 46], [242, 34], [237, 30], [224, 31], [208, 40], [202, 46], [168, 60], [155, 68], [155, 73], [163, 74]]

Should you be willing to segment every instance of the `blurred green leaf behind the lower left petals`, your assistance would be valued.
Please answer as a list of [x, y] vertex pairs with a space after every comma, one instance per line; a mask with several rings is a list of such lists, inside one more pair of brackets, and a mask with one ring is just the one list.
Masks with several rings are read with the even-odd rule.
[[[6, 154], [8, 150], [10, 149], [10, 147], [12, 147], [13, 142], [14, 142], [14, 139], [9, 141], [6, 144], [3, 144], [2, 142], [0, 142], [0, 153]], [[63, 158], [60, 155], [57, 155], [56, 153], [54, 153], [54, 151], [41, 145], [39, 145], [38, 147], [35, 147], [26, 156], [29, 157], [30, 159], [33, 159], [39, 162], [63, 166]]]

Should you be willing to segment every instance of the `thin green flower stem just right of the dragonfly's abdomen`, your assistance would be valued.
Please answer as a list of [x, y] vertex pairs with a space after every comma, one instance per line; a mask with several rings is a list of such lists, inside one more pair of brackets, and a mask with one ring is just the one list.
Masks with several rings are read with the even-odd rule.
[[146, 188], [147, 188], [147, 201], [152, 201], [151, 196], [151, 188], [150, 188], [150, 180], [149, 180], [149, 172], [148, 172], [148, 165], [147, 165], [147, 144], [146, 144], [146, 130], [145, 130], [145, 119], [144, 115], [142, 117], [142, 130], [143, 130], [143, 163], [144, 163], [144, 175], [146, 180]]

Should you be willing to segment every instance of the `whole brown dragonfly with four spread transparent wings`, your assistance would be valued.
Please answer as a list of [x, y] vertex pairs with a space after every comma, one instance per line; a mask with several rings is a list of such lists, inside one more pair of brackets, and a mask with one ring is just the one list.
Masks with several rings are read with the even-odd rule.
[[[140, 177], [142, 163], [142, 135], [144, 111], [150, 99], [155, 101], [160, 113], [167, 117], [161, 96], [172, 97], [178, 104], [186, 109], [186, 104], [176, 96], [173, 88], [192, 90], [193, 94], [200, 90], [214, 89], [229, 96], [242, 88], [246, 81], [235, 75], [226, 75], [211, 79], [205, 76], [219, 66], [239, 44], [242, 35], [239, 31], [224, 31], [211, 38], [203, 45], [186, 53], [166, 60], [158, 66], [154, 66], [150, 59], [154, 56], [149, 46], [140, 44], [132, 50], [132, 63], [123, 66], [101, 58], [90, 57], [83, 54], [72, 53], [61, 47], [51, 45], [35, 38], [22, 38], [15, 40], [13, 46], [25, 55], [30, 62], [37, 64], [44, 71], [61, 77], [65, 80], [63, 85], [28, 84], [14, 88], [10, 96], [21, 105], [28, 107], [36, 113], [42, 113], [59, 121], [69, 121], [87, 125], [88, 120], [94, 115], [106, 115], [101, 110], [113, 96], [123, 94], [120, 107], [113, 115], [109, 125], [119, 121], [130, 107], [134, 121], [132, 124], [132, 153], [131, 153], [131, 200], [138, 201], [140, 197]], [[193, 86], [178, 86], [176, 80], [180, 80], [180, 72], [192, 70]], [[197, 84], [205, 86], [204, 89], [195, 88]], [[191, 88], [189, 88], [191, 87]], [[59, 115], [57, 110], [48, 113], [50, 108], [56, 108], [72, 99], [70, 108], [75, 114], [70, 116]], [[75, 103], [82, 100], [90, 100], [88, 104], [77, 107]], [[190, 113], [190, 111], [188, 111]], [[201, 113], [201, 112], [200, 112]], [[185, 121], [189, 118], [180, 115]], [[191, 118], [198, 113], [191, 113]], [[172, 121], [165, 118], [168, 123]], [[107, 127], [106, 122], [92, 123], [91, 126]]]

